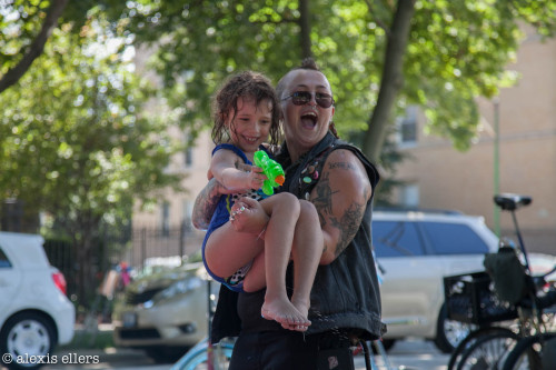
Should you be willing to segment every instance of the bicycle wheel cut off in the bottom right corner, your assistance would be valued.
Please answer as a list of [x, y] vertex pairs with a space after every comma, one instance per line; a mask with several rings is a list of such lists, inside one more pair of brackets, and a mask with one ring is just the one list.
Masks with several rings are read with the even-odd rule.
[[543, 333], [522, 339], [509, 352], [503, 370], [543, 370], [543, 346], [552, 338], [556, 338], [556, 333]]

